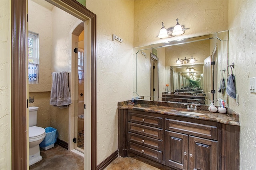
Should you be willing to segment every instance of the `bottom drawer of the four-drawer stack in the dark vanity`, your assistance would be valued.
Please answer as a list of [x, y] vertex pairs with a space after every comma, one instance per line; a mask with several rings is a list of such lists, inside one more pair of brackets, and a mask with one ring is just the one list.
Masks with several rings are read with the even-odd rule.
[[128, 142], [128, 152], [144, 156], [157, 162], [162, 162], [162, 151], [159, 150]]

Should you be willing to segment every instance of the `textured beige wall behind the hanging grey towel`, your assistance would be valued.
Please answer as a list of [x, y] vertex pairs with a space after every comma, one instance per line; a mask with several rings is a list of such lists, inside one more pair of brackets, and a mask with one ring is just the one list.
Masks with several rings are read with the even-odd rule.
[[[69, 71], [69, 77], [71, 76], [73, 52], [71, 33], [81, 22], [57, 7], [52, 9], [52, 71]], [[58, 138], [68, 143], [69, 108], [60, 109], [51, 106], [50, 125], [58, 130]]]

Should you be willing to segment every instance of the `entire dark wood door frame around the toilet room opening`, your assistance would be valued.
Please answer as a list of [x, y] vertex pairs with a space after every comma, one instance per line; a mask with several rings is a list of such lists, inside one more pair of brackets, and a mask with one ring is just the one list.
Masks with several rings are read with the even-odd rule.
[[[91, 22], [91, 169], [96, 170], [96, 15], [76, 0], [47, 0], [69, 14]], [[27, 169], [27, 0], [11, 0], [11, 145], [12, 169]]]

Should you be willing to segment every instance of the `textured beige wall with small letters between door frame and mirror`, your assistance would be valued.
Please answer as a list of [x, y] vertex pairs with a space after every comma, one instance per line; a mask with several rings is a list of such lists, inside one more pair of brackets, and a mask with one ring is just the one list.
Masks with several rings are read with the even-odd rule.
[[[86, 0], [97, 15], [97, 164], [117, 150], [117, 102], [132, 98], [131, 0]], [[112, 34], [124, 41], [112, 41]]]

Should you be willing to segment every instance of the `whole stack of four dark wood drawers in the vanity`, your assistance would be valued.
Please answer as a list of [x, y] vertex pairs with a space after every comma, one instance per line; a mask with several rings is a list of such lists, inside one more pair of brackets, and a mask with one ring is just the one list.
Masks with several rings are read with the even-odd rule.
[[128, 111], [128, 152], [162, 162], [162, 117]]

